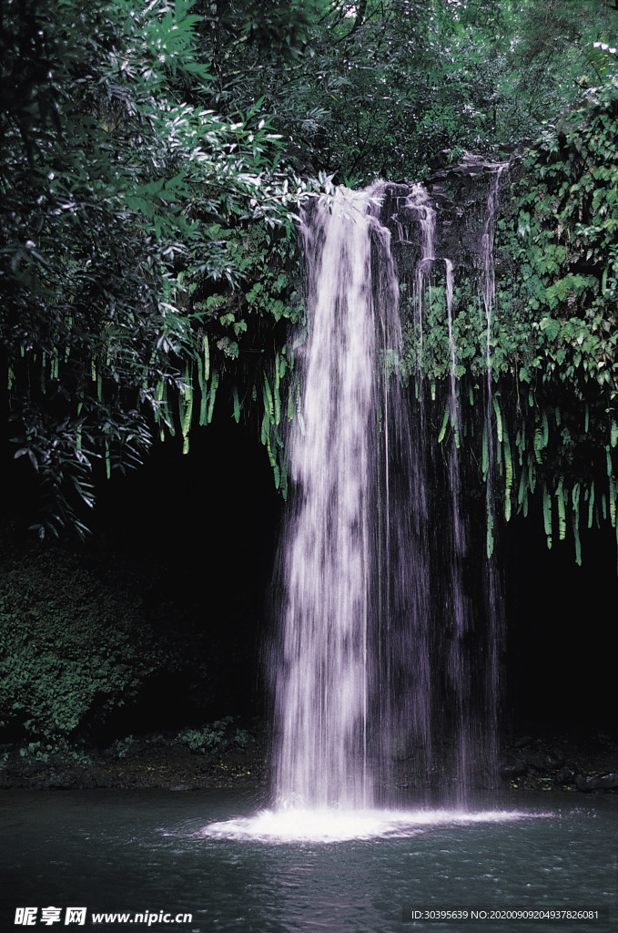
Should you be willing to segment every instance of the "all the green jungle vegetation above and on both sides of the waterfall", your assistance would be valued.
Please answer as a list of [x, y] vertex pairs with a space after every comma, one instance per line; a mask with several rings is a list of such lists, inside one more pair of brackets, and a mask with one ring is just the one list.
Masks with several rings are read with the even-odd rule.
[[[159, 437], [186, 452], [215, 405], [254, 424], [285, 494], [303, 203], [517, 146], [484, 427], [503, 512], [538, 488], [549, 542], [570, 522], [578, 560], [580, 516], [615, 525], [617, 3], [1, 10], [2, 378], [7, 455], [37, 478], [34, 534], [85, 534], [99, 478]], [[422, 360], [432, 382], [447, 375], [441, 328]], [[456, 329], [465, 420], [487, 367], [465, 285]]]

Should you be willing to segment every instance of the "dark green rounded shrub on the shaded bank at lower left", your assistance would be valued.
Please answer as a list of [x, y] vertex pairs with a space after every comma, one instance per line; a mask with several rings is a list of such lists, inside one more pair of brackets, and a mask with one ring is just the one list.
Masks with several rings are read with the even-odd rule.
[[135, 603], [70, 554], [6, 562], [0, 729], [57, 742], [127, 703], [162, 660]]

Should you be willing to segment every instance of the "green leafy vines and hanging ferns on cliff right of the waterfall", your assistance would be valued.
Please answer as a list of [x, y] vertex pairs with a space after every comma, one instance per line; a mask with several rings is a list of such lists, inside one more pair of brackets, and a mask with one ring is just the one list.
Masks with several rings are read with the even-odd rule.
[[[617, 127], [615, 77], [583, 91], [556, 125], [544, 125], [523, 159], [501, 174], [491, 307], [484, 276], [473, 272], [460, 279], [454, 308], [460, 424], [453, 427], [486, 482], [493, 439], [506, 520], [515, 510], [528, 515], [536, 491], [548, 546], [570, 526], [577, 563], [581, 523], [616, 527]], [[444, 285], [433, 285], [426, 308], [419, 364], [433, 383], [442, 381], [437, 404], [447, 412]], [[414, 361], [413, 332], [408, 352]], [[438, 416], [440, 440], [449, 436], [447, 421]], [[489, 550], [492, 521], [489, 513]]]

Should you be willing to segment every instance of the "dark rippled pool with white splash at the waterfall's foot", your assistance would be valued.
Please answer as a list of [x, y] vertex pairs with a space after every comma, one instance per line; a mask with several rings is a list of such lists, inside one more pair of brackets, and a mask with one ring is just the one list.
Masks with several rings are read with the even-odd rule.
[[[27, 928], [16, 911], [31, 907], [34, 928], [77, 929], [67, 908], [85, 907], [83, 926], [102, 930], [616, 933], [617, 804], [566, 794], [485, 800], [467, 814], [411, 804], [354, 827], [336, 813], [281, 823], [231, 791], [7, 791], [0, 928]], [[57, 919], [45, 925], [49, 907]], [[600, 915], [512, 913], [549, 909]], [[466, 910], [444, 922], [415, 913]], [[94, 913], [114, 912], [129, 915], [93, 926]]]

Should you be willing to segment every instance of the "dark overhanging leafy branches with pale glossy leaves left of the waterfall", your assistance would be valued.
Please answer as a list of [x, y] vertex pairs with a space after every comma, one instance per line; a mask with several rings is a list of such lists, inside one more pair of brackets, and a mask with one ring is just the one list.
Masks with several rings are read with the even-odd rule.
[[289, 236], [280, 141], [255, 107], [204, 104], [188, 7], [3, 5], [0, 332], [17, 456], [47, 494], [41, 535], [83, 530], [93, 467], [142, 462], [155, 425], [186, 447], [194, 372], [211, 419], [247, 325], [191, 296], [235, 288], [252, 249], [264, 264], [273, 226]]

